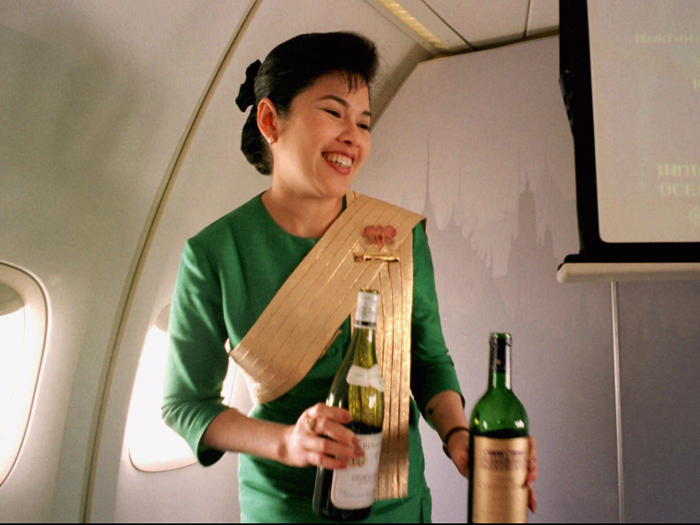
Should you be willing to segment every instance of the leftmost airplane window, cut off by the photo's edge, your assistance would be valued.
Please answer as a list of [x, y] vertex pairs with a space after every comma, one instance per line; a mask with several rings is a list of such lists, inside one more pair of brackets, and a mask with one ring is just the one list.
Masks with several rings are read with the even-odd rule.
[[12, 470], [29, 423], [46, 316], [38, 283], [0, 263], [0, 484]]

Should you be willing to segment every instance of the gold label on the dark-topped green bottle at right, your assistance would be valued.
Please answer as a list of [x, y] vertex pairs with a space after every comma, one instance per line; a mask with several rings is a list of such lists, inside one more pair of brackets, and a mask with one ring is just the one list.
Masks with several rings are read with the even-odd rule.
[[529, 439], [474, 436], [472, 521], [526, 523]]

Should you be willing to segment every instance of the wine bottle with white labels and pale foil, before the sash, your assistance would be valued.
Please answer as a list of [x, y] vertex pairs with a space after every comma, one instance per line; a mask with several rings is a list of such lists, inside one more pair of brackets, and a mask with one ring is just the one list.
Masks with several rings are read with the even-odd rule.
[[374, 346], [378, 308], [379, 292], [359, 292], [350, 346], [326, 400], [350, 412], [348, 427], [365, 452], [345, 469], [317, 469], [314, 512], [334, 521], [365, 519], [374, 505], [384, 422], [384, 383]]

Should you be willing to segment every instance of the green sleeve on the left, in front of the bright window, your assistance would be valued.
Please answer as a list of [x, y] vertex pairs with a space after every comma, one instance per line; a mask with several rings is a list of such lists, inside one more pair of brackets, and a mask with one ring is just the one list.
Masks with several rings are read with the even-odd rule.
[[162, 416], [205, 466], [223, 456], [200, 444], [209, 423], [227, 408], [221, 397], [228, 369], [221, 296], [215, 268], [188, 241], [170, 307]]

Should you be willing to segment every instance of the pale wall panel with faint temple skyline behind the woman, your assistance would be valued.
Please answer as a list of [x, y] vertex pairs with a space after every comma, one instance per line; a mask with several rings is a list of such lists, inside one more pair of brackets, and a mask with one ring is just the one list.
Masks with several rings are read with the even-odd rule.
[[[486, 390], [489, 332], [513, 334], [514, 390], [539, 451], [531, 521], [615, 521], [610, 286], [556, 280], [578, 250], [558, 39], [421, 64], [372, 137], [357, 189], [428, 219], [467, 415]], [[433, 520], [464, 522], [467, 482], [422, 431]]]

